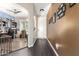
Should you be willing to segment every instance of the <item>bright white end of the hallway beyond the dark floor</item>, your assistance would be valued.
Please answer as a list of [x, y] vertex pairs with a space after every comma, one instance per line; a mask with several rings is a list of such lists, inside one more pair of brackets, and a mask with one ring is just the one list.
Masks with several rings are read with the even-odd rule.
[[38, 38], [47, 38], [46, 16], [38, 18]]

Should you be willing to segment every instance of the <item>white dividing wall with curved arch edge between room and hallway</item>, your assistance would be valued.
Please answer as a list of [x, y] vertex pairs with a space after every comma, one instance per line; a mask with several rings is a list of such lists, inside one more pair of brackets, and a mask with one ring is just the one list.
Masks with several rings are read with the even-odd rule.
[[24, 7], [29, 15], [28, 15], [28, 47], [33, 47], [36, 39], [35, 39], [35, 32], [34, 29], [34, 6], [32, 3], [18, 3], [22, 7]]

